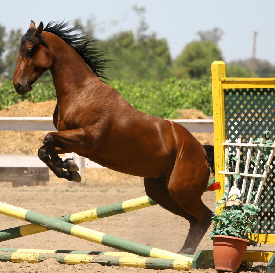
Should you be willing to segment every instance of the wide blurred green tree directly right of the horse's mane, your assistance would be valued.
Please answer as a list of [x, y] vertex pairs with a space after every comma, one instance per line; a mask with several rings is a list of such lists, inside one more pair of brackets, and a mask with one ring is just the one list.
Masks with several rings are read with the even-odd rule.
[[105, 43], [112, 66], [107, 76], [111, 79], [163, 80], [168, 76], [171, 56], [166, 39], [156, 34], [136, 41], [132, 31], [121, 32]]

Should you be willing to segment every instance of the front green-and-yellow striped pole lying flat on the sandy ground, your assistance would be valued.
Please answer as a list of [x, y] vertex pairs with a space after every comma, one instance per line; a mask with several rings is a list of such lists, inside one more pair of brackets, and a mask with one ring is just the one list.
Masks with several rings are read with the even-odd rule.
[[101, 265], [129, 266], [148, 269], [176, 269], [190, 270], [189, 265], [182, 259], [161, 259], [144, 257], [119, 257], [119, 256], [92, 256], [85, 254], [57, 254], [57, 253], [22, 253], [0, 252], [0, 261], [20, 263], [39, 263], [48, 258], [55, 258], [61, 264], [99, 263]]

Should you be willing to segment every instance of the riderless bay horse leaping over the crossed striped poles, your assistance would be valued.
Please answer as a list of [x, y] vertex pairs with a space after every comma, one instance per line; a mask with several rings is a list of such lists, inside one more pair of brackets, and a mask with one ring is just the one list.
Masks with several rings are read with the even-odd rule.
[[74, 160], [62, 161], [58, 154], [74, 152], [112, 170], [144, 177], [148, 196], [189, 221], [178, 253], [193, 254], [212, 217], [201, 200], [211, 163], [206, 149], [182, 125], [138, 111], [102, 81], [106, 59], [79, 27], [50, 22], [43, 28], [42, 22], [36, 28], [31, 21], [13, 77], [19, 95], [31, 91], [46, 70], [53, 77], [57, 132], [46, 134], [39, 158], [69, 181], [81, 180], [79, 169]]

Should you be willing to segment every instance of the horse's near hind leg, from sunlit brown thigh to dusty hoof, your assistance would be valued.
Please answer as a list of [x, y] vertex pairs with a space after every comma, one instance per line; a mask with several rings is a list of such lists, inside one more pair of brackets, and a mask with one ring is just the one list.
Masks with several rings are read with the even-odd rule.
[[175, 166], [167, 185], [176, 203], [190, 215], [190, 229], [180, 254], [194, 253], [212, 221], [213, 212], [201, 200], [209, 179], [209, 167], [208, 164], [197, 166], [186, 167], [185, 171]]

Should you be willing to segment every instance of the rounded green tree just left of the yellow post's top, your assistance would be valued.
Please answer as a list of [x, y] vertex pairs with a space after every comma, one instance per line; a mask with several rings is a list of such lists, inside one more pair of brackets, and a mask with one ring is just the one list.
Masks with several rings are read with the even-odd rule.
[[222, 60], [222, 53], [213, 41], [193, 41], [175, 59], [172, 71], [178, 78], [211, 76], [211, 63], [215, 60]]

